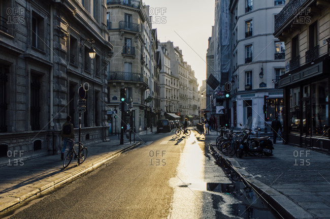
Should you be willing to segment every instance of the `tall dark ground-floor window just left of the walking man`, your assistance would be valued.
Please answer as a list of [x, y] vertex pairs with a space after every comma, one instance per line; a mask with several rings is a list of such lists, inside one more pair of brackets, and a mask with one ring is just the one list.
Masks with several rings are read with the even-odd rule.
[[37, 75], [31, 74], [31, 96], [30, 96], [30, 124], [31, 130], [40, 130], [40, 112], [41, 112], [41, 83]]

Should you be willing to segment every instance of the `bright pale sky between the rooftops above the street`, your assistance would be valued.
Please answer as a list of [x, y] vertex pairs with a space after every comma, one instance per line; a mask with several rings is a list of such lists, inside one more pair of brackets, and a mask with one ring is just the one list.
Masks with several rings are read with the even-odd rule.
[[160, 42], [173, 41], [195, 71], [202, 86], [206, 79], [206, 52], [214, 25], [214, 0], [143, 0], [154, 17]]

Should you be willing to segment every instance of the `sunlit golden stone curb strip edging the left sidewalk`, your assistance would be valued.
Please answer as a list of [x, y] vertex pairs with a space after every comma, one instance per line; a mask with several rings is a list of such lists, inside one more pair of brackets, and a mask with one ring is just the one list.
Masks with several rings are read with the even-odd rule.
[[[141, 142], [138, 142], [135, 144], [130, 144], [127, 147], [122, 148], [109, 155], [106, 155], [105, 157], [103, 156], [102, 158], [99, 158], [97, 161], [95, 161], [91, 164], [87, 164], [86, 166], [84, 166], [84, 164], [82, 164], [81, 168], [79, 170], [76, 170], [72, 173], [70, 173], [70, 169], [67, 169], [67, 172], [65, 172], [65, 169], [64, 169], [62, 173], [58, 173], [58, 174], [55, 174], [54, 176], [52, 176], [51, 178], [53, 178], [53, 180], [45, 179], [43, 181], [40, 181], [40, 183], [38, 183], [37, 185], [23, 186], [23, 187], [25, 187], [24, 190], [26, 192], [18, 193], [19, 195], [14, 194], [11, 196], [7, 196], [1, 200], [0, 212], [2, 213], [6, 210], [9, 210], [11, 207], [18, 205], [27, 199], [44, 194], [45, 192], [48, 192], [48, 191], [54, 189], [55, 187], [63, 185], [64, 183], [67, 183], [68, 181], [73, 180], [85, 173], [92, 172], [93, 170], [100, 167], [102, 164], [108, 162], [109, 160], [111, 160], [115, 157], [118, 157], [123, 152], [133, 149], [138, 145], [141, 145]], [[61, 176], [60, 178], [58, 178], [58, 177], [56, 178], [56, 175], [59, 176], [60, 174], [63, 174], [63, 173], [67, 173], [67, 174], [65, 174], [65, 176]], [[27, 190], [27, 189], [31, 189], [31, 187], [32, 187], [32, 191]], [[21, 189], [21, 188], [19, 188], [19, 189]]]

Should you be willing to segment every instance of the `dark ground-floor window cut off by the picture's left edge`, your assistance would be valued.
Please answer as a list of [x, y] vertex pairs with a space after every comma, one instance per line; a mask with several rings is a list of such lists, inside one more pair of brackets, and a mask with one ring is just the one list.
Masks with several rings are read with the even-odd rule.
[[9, 67], [0, 65], [0, 133], [7, 132], [7, 81]]

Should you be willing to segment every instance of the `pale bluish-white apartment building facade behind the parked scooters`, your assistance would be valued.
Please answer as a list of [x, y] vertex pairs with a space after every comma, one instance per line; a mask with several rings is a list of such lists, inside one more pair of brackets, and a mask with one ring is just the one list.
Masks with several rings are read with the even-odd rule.
[[283, 90], [278, 87], [278, 80], [285, 70], [285, 45], [272, 33], [275, 15], [284, 4], [279, 0], [229, 1], [229, 123], [233, 127], [241, 128], [242, 123], [270, 132], [270, 123], [276, 116], [283, 122]]

